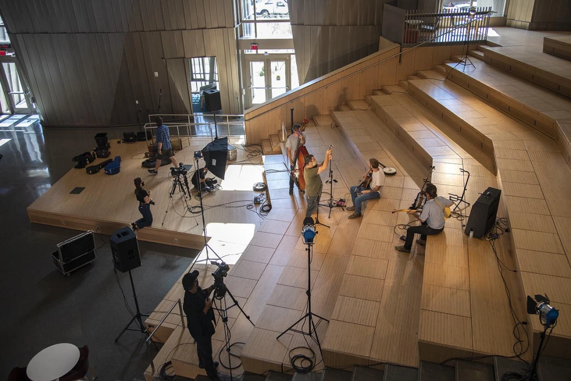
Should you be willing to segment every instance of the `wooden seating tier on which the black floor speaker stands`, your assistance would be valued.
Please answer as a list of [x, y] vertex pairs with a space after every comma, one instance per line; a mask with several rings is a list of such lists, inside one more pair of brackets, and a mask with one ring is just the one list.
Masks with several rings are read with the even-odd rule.
[[[464, 178], [459, 168], [472, 175], [467, 200], [475, 200], [480, 188], [498, 187], [494, 173], [482, 165], [493, 167], [492, 159], [412, 96], [376, 96], [372, 102], [381, 120], [391, 129], [399, 129], [393, 132], [407, 141], [407, 147], [416, 144], [415, 153], [421, 149], [430, 158], [436, 167], [431, 181], [439, 194], [461, 192]], [[480, 283], [482, 274], [488, 274], [487, 281], [501, 287], [501, 277], [496, 262], [481, 260], [482, 253], [488, 259], [494, 258], [489, 245], [468, 240], [462, 223], [455, 219], [447, 221], [442, 234], [428, 237], [419, 321], [421, 360], [441, 362], [457, 355], [511, 354], [513, 324], [507, 299]], [[502, 260], [510, 260], [507, 250], [498, 255]], [[515, 290], [515, 278], [511, 281]], [[482, 327], [483, 321], [493, 318], [489, 305], [494, 305], [494, 313], [504, 318], [493, 332]]]

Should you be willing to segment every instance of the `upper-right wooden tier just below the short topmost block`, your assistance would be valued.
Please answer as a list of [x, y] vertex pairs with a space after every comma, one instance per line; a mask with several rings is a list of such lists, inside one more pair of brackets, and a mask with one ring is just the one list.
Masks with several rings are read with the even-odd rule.
[[485, 47], [484, 61], [543, 87], [571, 97], [571, 62], [520, 47]]

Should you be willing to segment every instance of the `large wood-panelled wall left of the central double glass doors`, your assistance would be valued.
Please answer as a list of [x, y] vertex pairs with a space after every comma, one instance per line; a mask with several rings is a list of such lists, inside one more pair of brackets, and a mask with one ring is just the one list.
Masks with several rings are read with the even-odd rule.
[[235, 10], [236, 0], [0, 0], [41, 120], [58, 126], [144, 123], [161, 91], [162, 114], [188, 114], [187, 59], [199, 56], [216, 56], [223, 112], [238, 114]]

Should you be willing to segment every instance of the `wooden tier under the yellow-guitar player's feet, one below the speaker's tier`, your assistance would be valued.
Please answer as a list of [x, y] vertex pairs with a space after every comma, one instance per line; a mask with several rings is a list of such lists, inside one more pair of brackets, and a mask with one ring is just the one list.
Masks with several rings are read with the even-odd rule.
[[[385, 177], [383, 196], [369, 201], [361, 228], [352, 236], [356, 245], [338, 291], [327, 335], [321, 342], [325, 365], [343, 367], [388, 361], [416, 367], [422, 265], [421, 261], [400, 256], [393, 249], [393, 226], [397, 221], [408, 221], [408, 216], [390, 212], [410, 204], [419, 189], [412, 177], [420, 178], [424, 165], [407, 153], [373, 112], [332, 112], [332, 116], [363, 164], [369, 157], [377, 157], [398, 172], [396, 176]], [[396, 161], [393, 151], [406, 156]], [[407, 166], [408, 172], [400, 163]], [[394, 300], [403, 301], [407, 309], [393, 308]]]

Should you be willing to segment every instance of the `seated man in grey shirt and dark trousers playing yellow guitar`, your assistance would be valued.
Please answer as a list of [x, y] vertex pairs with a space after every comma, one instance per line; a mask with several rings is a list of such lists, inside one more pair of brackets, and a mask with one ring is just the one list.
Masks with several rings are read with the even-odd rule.
[[436, 193], [436, 185], [427, 183], [425, 196], [427, 201], [424, 203], [422, 213], [411, 210], [407, 212], [415, 216], [420, 221], [419, 226], [411, 226], [407, 229], [407, 238], [403, 246], [396, 246], [399, 252], [410, 253], [412, 249], [412, 240], [415, 234], [420, 234], [420, 240], [416, 240], [419, 245], [426, 245], [427, 236], [435, 236], [444, 230], [444, 208], [454, 205], [452, 200], [438, 196]]

